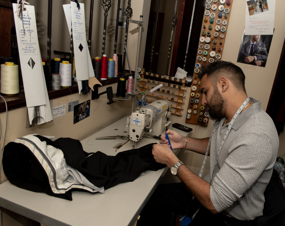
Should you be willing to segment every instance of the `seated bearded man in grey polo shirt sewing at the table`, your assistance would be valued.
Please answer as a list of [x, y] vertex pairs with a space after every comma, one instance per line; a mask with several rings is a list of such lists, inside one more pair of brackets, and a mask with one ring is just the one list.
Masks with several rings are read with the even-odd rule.
[[273, 121], [259, 100], [247, 96], [245, 75], [235, 64], [213, 62], [203, 67], [199, 78], [200, 101], [216, 120], [210, 138], [185, 138], [172, 130], [167, 134], [173, 149], [204, 154], [203, 165], [209, 155], [210, 171], [204, 179], [203, 165], [200, 176], [191, 172], [162, 135], [160, 144], [153, 145], [154, 159], [182, 182], [159, 185], [138, 225], [170, 225], [169, 212], [192, 217], [190, 225], [254, 225], [262, 216], [263, 193], [279, 146]]

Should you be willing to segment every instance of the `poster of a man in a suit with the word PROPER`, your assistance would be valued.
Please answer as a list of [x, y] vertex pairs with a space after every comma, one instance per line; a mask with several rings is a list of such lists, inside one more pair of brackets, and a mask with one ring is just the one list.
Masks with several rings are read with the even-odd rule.
[[245, 35], [240, 44], [238, 63], [265, 67], [273, 35]]

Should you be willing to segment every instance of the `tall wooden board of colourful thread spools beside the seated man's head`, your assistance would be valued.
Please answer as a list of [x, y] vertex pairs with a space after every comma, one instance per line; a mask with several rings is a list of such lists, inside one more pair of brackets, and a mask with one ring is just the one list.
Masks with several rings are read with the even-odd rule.
[[[232, 1], [233, 0], [206, 1], [199, 46], [197, 50], [194, 75], [191, 86], [191, 93], [187, 105], [188, 112], [187, 115], [185, 116], [186, 117], [185, 121], [187, 123], [196, 124], [200, 126], [208, 126], [208, 120], [209, 120], [208, 111], [202, 105], [202, 94], [200, 93], [200, 85], [199, 85], [200, 80], [197, 77], [198, 75], [197, 73], [200, 71], [200, 69], [202, 69], [204, 65], [209, 64], [216, 60], [221, 60], [224, 48], [224, 42], [227, 34], [230, 12], [232, 9]], [[223, 12], [221, 12], [222, 8]], [[221, 14], [219, 15], [219, 13]], [[225, 18], [225, 14], [227, 14], [226, 15], [227, 18]], [[219, 16], [221, 18], [219, 18]], [[197, 101], [199, 102], [197, 103]], [[207, 122], [204, 122], [204, 120]]]

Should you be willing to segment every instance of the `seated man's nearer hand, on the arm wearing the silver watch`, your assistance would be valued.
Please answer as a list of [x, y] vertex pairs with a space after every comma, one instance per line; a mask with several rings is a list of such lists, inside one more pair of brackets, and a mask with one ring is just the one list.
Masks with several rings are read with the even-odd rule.
[[170, 145], [154, 144], [152, 146], [152, 154], [156, 162], [172, 167], [179, 159], [173, 154]]

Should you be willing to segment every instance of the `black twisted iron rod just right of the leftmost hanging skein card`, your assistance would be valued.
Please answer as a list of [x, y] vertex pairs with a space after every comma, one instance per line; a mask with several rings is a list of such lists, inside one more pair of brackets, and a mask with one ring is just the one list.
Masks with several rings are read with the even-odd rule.
[[47, 65], [48, 65], [48, 83], [47, 90], [50, 89], [51, 81], [51, 22], [53, 14], [53, 0], [48, 0], [47, 7]]

